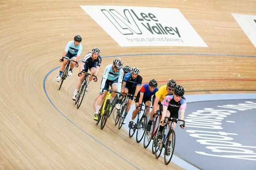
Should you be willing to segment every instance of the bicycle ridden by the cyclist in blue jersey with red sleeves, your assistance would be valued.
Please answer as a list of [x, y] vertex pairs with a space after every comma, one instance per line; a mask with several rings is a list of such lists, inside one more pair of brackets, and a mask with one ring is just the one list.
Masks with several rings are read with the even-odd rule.
[[[147, 106], [144, 104], [142, 104], [141, 106], [145, 106], [144, 110], [142, 108], [140, 109], [140, 111], [138, 112], [138, 116], [137, 116], [137, 123], [133, 122], [132, 128], [129, 129], [129, 137], [130, 138], [134, 135], [134, 133], [137, 129], [137, 133], [136, 133], [136, 142], [137, 143], [139, 143], [142, 140], [142, 138], [146, 132], [147, 116], [145, 114], [146, 114], [147, 107], [153, 108], [151, 106]], [[140, 119], [141, 111], [143, 111], [143, 114], [142, 114], [142, 118]], [[142, 135], [141, 135], [141, 133], [142, 133]]]

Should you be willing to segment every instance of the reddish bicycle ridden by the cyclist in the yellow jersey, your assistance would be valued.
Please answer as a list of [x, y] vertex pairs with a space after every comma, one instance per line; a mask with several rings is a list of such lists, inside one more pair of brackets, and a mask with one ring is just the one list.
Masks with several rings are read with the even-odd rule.
[[[155, 130], [155, 127], [156, 127], [157, 120], [158, 120], [159, 116], [160, 116], [160, 111], [159, 110], [156, 111], [155, 114], [153, 114], [153, 128], [151, 127], [152, 131], [151, 130], [147, 131], [147, 129], [146, 129], [146, 133], [145, 133], [145, 136], [144, 136], [144, 142], [143, 142], [144, 148], [148, 147], [148, 145], [151, 142], [151, 139], [154, 140], [155, 134], [157, 134], [158, 127], [157, 127], [156, 130]], [[153, 154], [155, 154], [155, 152], [153, 150], [153, 145], [152, 145], [152, 152], [153, 152]]]

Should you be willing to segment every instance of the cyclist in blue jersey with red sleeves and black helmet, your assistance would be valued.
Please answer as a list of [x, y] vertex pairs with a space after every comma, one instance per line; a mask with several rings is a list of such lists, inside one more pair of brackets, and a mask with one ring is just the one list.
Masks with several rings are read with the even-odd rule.
[[[135, 101], [136, 109], [132, 112], [132, 118], [128, 125], [130, 129], [132, 129], [133, 119], [136, 117], [136, 115], [140, 111], [142, 102], [147, 106], [151, 106], [151, 96], [154, 95], [157, 91], [158, 91], [157, 81], [155, 79], [150, 80], [148, 84], [144, 84], [142, 86], [142, 88], [140, 89], [140, 91], [136, 96], [136, 101]], [[146, 115], [148, 115], [148, 112], [149, 112], [149, 107], [147, 107]]]

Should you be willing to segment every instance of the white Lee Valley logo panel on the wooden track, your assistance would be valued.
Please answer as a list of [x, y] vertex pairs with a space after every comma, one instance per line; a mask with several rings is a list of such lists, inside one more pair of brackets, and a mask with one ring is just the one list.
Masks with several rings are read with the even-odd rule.
[[121, 47], [207, 47], [178, 9], [128, 6], [80, 6]]

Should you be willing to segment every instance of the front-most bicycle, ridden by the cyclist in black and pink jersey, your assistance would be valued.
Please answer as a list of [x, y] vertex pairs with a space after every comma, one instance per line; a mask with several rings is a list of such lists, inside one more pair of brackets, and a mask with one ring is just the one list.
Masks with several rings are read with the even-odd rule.
[[[171, 118], [171, 117], [165, 117], [165, 119], [166, 118], [167, 118], [167, 122], [165, 125], [165, 129], [162, 132], [162, 138], [160, 139], [158, 136], [157, 136], [157, 138], [155, 138], [156, 139], [155, 140], [155, 158], [160, 157], [160, 155], [162, 153], [162, 149], [163, 149], [163, 147], [165, 147], [164, 160], [165, 160], [165, 165], [168, 165], [172, 159], [173, 151], [174, 151], [174, 147], [175, 147], [175, 131], [173, 130], [173, 121], [174, 120], [181, 121], [181, 122], [183, 122], [183, 124], [181, 124], [180, 126], [185, 127], [185, 120]], [[169, 124], [171, 127], [170, 127], [167, 135], [165, 135], [167, 124]]]

